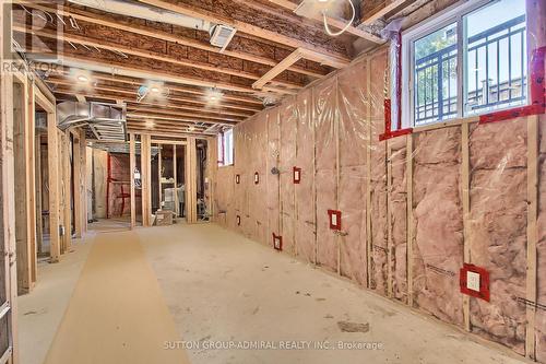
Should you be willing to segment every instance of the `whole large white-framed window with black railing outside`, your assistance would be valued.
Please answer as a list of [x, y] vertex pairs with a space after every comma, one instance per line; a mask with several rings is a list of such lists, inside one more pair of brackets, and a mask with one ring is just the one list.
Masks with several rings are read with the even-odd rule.
[[420, 126], [526, 105], [525, 40], [522, 0], [468, 1], [407, 31], [404, 114]]

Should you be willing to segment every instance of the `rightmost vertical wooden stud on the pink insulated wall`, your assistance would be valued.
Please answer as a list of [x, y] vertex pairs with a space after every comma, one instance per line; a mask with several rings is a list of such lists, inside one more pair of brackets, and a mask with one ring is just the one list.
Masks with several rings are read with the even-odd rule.
[[[537, 254], [538, 243], [538, 116], [527, 117], [527, 302], [537, 300]], [[535, 322], [536, 305], [526, 305], [525, 356], [536, 360]]]

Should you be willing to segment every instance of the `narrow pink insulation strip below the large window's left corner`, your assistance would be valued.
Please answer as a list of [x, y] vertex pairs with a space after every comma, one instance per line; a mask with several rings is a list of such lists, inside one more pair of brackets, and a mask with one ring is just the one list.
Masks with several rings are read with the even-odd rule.
[[[407, 137], [389, 141], [391, 149], [390, 208], [393, 296], [407, 302]], [[411, 137], [408, 137], [411, 138]]]

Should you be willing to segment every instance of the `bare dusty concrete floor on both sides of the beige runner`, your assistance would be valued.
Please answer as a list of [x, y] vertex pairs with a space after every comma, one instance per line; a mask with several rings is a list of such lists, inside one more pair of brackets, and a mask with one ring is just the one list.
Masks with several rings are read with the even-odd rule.
[[[526, 362], [216, 225], [135, 232], [193, 364]], [[86, 249], [40, 266], [38, 286], [19, 300], [22, 364], [45, 357]], [[204, 349], [256, 341], [265, 348]]]

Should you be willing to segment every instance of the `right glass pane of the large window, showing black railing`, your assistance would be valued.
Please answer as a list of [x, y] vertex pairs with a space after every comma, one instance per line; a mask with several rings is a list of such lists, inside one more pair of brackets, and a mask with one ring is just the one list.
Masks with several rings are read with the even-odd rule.
[[466, 115], [526, 104], [525, 1], [502, 0], [463, 16]]

